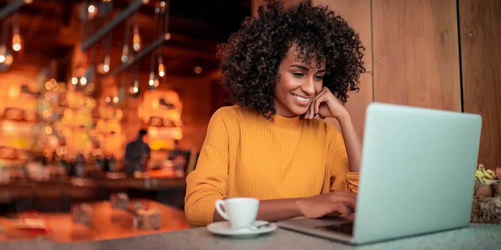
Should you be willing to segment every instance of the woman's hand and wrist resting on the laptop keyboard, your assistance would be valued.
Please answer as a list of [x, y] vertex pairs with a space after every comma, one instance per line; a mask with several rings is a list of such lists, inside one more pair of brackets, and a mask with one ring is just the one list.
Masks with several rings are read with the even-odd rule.
[[347, 191], [333, 191], [298, 200], [299, 210], [309, 218], [325, 215], [353, 220], [357, 194]]

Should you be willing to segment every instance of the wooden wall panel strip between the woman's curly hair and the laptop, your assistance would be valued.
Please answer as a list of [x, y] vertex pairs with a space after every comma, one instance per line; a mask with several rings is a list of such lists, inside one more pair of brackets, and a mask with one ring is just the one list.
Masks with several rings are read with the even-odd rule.
[[[336, 14], [341, 15], [359, 33], [365, 46], [364, 65], [367, 71], [372, 71], [371, 44], [371, 2], [370, 0], [313, 0], [313, 4], [328, 5]], [[350, 112], [353, 124], [359, 136], [363, 137], [365, 109], [372, 101], [372, 74], [367, 72], [360, 76], [360, 91], [350, 93], [346, 108]], [[339, 128], [334, 118], [329, 122]]]

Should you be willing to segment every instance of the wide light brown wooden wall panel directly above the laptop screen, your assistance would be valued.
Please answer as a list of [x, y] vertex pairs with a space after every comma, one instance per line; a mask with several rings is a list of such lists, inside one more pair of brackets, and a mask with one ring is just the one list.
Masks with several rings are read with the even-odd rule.
[[461, 110], [455, 0], [373, 0], [374, 100]]

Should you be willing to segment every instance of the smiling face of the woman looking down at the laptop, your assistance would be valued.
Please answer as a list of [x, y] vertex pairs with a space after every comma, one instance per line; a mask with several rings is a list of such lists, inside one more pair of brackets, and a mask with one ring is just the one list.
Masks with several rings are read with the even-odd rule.
[[275, 84], [273, 104], [277, 114], [294, 117], [306, 113], [313, 97], [322, 89], [325, 74], [325, 62], [320, 68], [297, 60], [296, 46], [291, 46], [284, 60], [279, 65], [279, 78]]

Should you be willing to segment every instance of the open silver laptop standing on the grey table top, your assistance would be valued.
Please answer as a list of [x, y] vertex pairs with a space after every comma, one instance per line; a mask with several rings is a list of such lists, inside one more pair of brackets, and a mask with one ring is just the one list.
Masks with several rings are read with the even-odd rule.
[[367, 107], [357, 208], [280, 227], [365, 244], [466, 226], [480, 141], [477, 114], [372, 102]]

